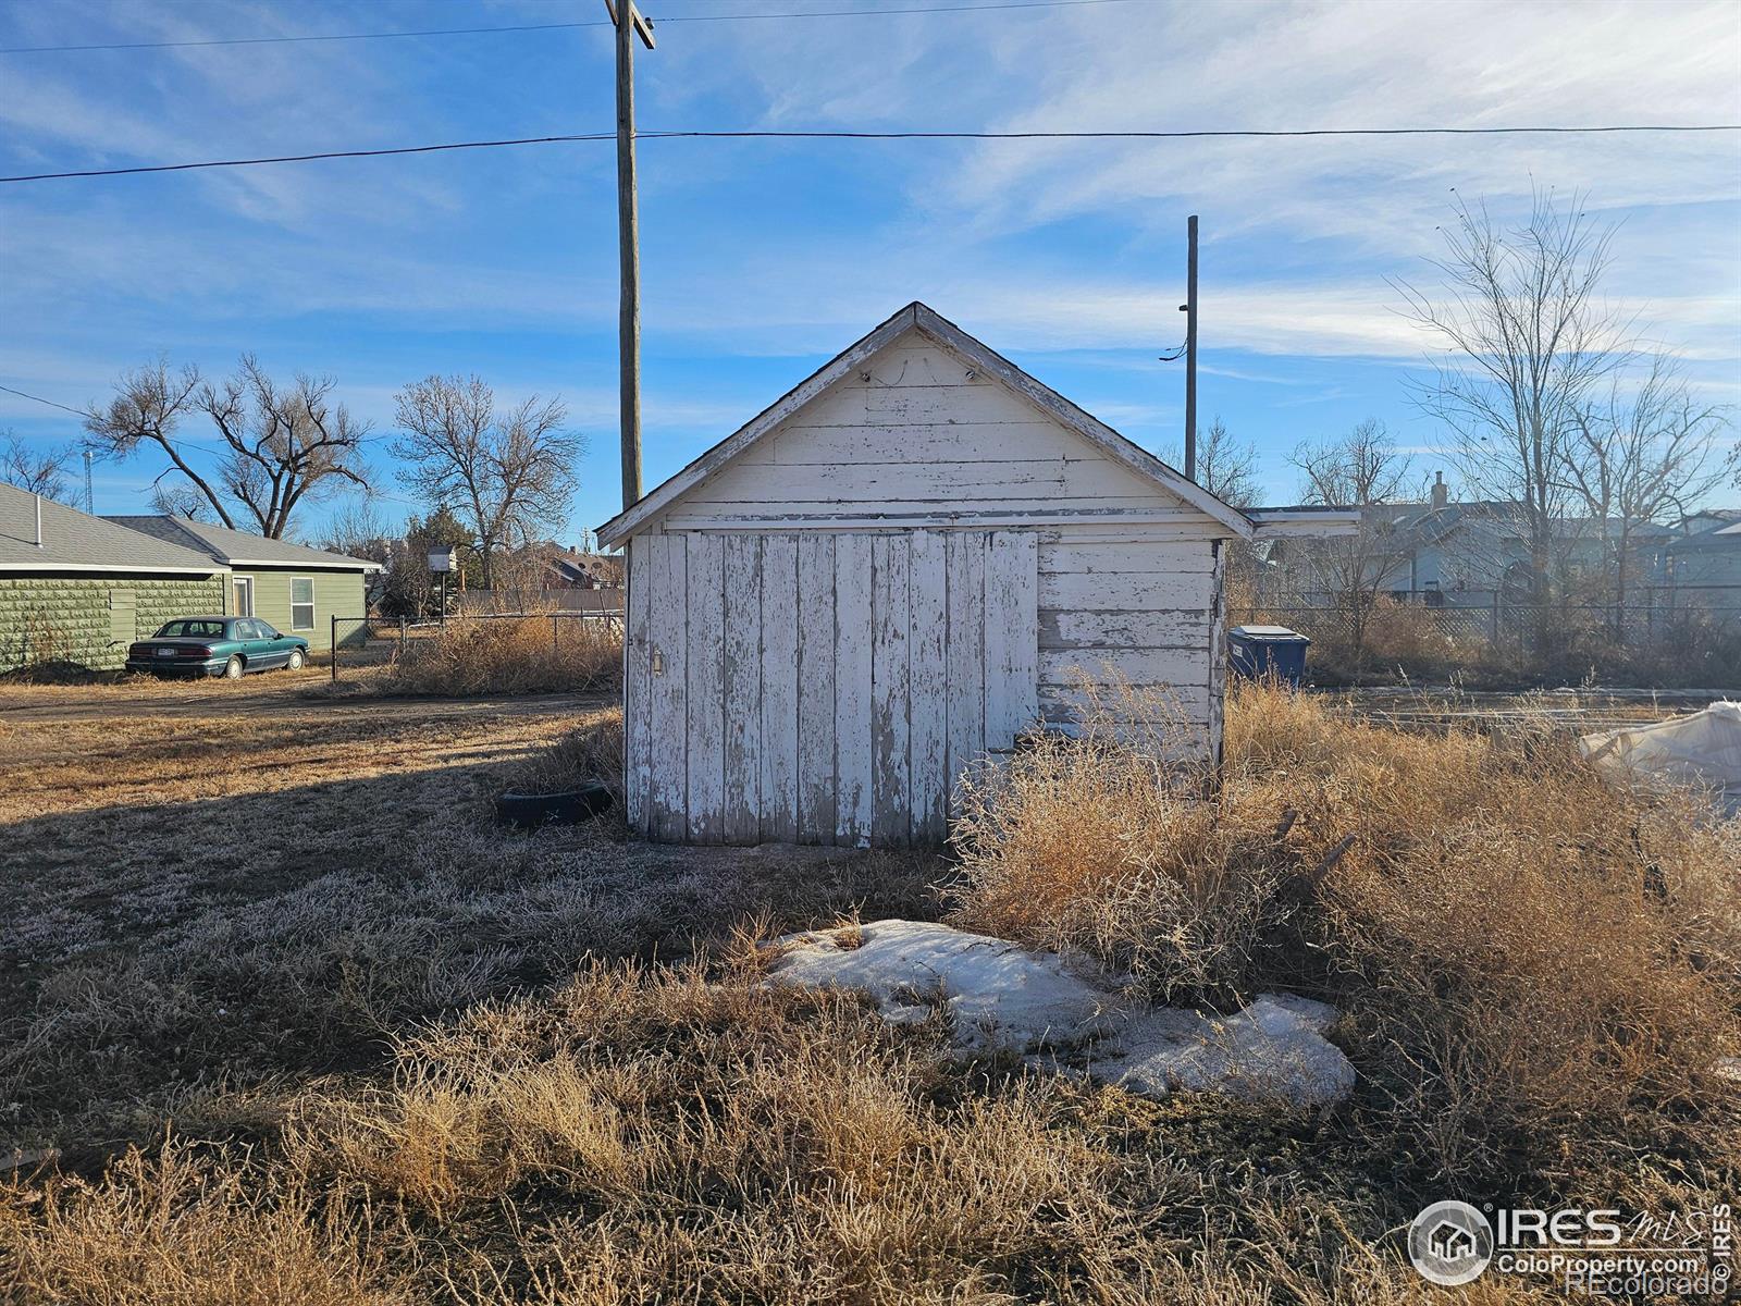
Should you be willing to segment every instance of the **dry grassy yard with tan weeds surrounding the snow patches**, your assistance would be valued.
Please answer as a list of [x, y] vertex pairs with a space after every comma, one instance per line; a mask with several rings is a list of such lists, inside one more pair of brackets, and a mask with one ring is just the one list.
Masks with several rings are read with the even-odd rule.
[[[493, 792], [615, 728], [528, 702], [0, 717], [0, 1158], [44, 1156], [0, 1184], [0, 1294], [1438, 1301], [1400, 1254], [1424, 1202], [1736, 1191], [1741, 834], [1548, 730], [1248, 691], [1212, 803], [1046, 744], [945, 862], [498, 831]], [[1360, 1088], [961, 1062], [745, 946], [944, 912], [1170, 1001], [1328, 998]]]

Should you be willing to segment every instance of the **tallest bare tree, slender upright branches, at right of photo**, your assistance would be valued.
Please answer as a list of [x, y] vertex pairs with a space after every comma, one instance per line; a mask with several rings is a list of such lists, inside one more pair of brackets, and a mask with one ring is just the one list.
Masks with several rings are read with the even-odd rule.
[[1563, 573], [1574, 502], [1565, 461], [1577, 414], [1626, 355], [1630, 322], [1598, 298], [1612, 228], [1572, 195], [1537, 190], [1523, 226], [1501, 228], [1485, 205], [1455, 202], [1436, 291], [1398, 282], [1407, 315], [1450, 359], [1419, 404], [1457, 435], [1454, 461], [1476, 495], [1515, 505], [1529, 547], [1530, 599]]

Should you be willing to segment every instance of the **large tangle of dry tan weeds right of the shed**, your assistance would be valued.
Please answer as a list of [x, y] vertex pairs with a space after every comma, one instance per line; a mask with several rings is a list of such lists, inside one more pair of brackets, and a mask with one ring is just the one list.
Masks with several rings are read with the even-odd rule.
[[1222, 785], [1048, 738], [970, 791], [956, 919], [1215, 1003], [1348, 1013], [1365, 1109], [1431, 1170], [1560, 1149], [1734, 1160], [1741, 824], [1617, 794], [1544, 731], [1403, 735], [1238, 691]]

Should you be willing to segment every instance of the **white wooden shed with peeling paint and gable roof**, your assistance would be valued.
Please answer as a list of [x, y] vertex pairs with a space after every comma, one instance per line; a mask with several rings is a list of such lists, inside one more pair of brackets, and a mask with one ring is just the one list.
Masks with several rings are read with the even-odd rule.
[[[1295, 522], [1299, 519], [1295, 517]], [[653, 839], [937, 843], [1072, 669], [1220, 745], [1222, 542], [1260, 529], [921, 303], [599, 528]]]

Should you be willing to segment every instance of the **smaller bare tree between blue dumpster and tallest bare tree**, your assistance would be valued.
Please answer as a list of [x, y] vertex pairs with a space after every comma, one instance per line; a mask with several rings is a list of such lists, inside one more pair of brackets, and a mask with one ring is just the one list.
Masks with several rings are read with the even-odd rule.
[[1299, 549], [1314, 589], [1328, 590], [1341, 608], [1360, 669], [1379, 592], [1408, 555], [1395, 517], [1372, 508], [1405, 496], [1412, 460], [1396, 449], [1382, 421], [1367, 418], [1346, 435], [1302, 442], [1288, 461], [1301, 472], [1306, 503], [1361, 508], [1356, 535], [1302, 540]]

